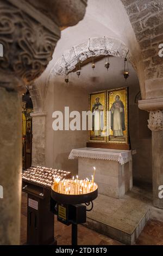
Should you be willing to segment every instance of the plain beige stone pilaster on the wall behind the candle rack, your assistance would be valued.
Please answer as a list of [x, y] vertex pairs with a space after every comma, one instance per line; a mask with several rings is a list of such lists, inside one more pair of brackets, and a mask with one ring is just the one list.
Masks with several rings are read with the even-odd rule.
[[46, 113], [32, 113], [32, 165], [46, 166]]

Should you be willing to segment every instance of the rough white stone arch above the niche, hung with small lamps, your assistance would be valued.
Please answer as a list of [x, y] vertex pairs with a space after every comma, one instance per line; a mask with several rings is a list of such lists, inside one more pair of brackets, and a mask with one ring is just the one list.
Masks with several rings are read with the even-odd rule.
[[[89, 57], [102, 55], [125, 58], [128, 52], [128, 47], [120, 39], [105, 36], [90, 38], [63, 53], [64, 57], [59, 58], [51, 69], [48, 81], [54, 75], [65, 75], [65, 72], [71, 72], [79, 60], [83, 62]], [[136, 64], [130, 52], [128, 53], [128, 59], [136, 70]]]

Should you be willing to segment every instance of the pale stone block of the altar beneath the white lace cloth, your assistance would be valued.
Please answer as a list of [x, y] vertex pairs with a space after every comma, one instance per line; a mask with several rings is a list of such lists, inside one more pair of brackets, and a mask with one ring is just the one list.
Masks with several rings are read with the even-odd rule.
[[109, 197], [122, 198], [133, 187], [130, 162], [121, 165], [116, 161], [79, 157], [78, 175], [80, 179], [89, 176], [92, 166], [96, 166], [95, 182], [98, 184], [98, 193]]

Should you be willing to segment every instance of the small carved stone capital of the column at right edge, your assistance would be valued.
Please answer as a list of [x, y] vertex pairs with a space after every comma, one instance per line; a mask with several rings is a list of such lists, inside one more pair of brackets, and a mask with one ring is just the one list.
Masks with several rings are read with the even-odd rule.
[[148, 128], [151, 131], [163, 130], [163, 111], [151, 111], [149, 112]]

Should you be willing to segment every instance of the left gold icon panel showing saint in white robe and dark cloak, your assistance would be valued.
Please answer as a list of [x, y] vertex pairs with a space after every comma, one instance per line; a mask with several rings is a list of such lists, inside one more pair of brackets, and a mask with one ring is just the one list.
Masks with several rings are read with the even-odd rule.
[[106, 142], [106, 91], [89, 94], [91, 113], [90, 142]]

